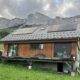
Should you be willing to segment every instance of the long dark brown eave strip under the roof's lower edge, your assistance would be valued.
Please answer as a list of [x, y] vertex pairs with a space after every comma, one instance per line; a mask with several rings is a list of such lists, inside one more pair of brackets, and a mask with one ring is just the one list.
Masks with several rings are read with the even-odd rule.
[[19, 40], [19, 41], [2, 41], [2, 43], [51, 43], [51, 42], [77, 42], [78, 38], [71, 39], [44, 39], [44, 40]]

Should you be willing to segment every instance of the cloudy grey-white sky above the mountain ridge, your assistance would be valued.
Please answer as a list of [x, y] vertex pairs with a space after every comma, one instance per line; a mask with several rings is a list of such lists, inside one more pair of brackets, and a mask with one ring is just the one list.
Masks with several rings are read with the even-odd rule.
[[80, 15], [80, 0], [0, 0], [0, 17], [27, 18], [35, 12], [52, 18]]

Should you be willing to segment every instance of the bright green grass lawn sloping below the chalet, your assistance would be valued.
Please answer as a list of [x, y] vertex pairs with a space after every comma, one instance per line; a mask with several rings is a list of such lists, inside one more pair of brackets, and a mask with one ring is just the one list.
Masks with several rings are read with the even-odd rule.
[[12, 64], [0, 64], [0, 80], [80, 80], [80, 75], [57, 73], [52, 70], [28, 70], [27, 67]]

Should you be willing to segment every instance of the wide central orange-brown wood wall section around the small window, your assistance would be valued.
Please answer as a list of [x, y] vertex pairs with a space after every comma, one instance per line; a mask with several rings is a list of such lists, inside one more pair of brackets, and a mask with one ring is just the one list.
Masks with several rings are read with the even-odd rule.
[[19, 44], [18, 55], [22, 57], [32, 57], [36, 54], [44, 54], [47, 57], [54, 56], [54, 45], [51, 43], [45, 43], [43, 49], [30, 49], [30, 44]]

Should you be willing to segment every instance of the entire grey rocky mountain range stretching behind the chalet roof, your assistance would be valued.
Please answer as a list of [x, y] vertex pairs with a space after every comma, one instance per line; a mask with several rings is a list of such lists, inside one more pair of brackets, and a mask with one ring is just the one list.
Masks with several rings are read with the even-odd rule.
[[26, 19], [14, 18], [5, 19], [0, 18], [0, 30], [10, 29], [10, 28], [23, 28], [30, 25], [57, 25], [57, 24], [70, 24], [70, 23], [80, 23], [80, 15], [69, 17], [69, 18], [50, 18], [47, 15], [41, 14], [39, 12], [29, 14]]

